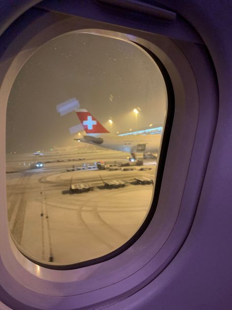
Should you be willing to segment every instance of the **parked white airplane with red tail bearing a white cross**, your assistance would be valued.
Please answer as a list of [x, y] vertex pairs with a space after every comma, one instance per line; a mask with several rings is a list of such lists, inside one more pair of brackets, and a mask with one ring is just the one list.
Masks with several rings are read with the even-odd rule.
[[76, 114], [86, 132], [83, 138], [75, 139], [77, 141], [128, 152], [133, 157], [135, 157], [135, 153], [158, 154], [159, 152], [161, 134], [116, 135], [105, 129], [86, 109], [77, 109]]

